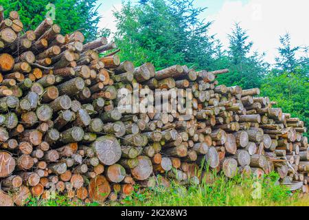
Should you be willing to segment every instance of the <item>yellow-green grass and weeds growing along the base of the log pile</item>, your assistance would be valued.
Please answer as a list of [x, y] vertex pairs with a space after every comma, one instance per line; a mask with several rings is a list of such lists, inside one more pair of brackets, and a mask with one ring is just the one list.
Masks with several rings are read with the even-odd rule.
[[[309, 206], [309, 197], [300, 192], [290, 192], [279, 185], [276, 173], [262, 179], [242, 178], [240, 175], [227, 180], [224, 176], [212, 176], [212, 181], [202, 180], [191, 186], [171, 182], [166, 188], [141, 189], [122, 201], [104, 206]], [[27, 206], [102, 206], [99, 203], [82, 203], [57, 195], [54, 199], [31, 198]]]

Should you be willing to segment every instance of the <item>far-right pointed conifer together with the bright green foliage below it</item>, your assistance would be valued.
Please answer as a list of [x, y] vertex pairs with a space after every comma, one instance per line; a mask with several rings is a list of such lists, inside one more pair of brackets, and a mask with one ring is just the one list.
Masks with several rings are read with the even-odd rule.
[[[290, 34], [280, 36], [279, 56], [275, 58], [275, 69], [263, 81], [262, 94], [277, 101], [292, 117], [300, 118], [308, 128], [309, 124], [309, 58], [308, 47], [293, 47]], [[306, 56], [297, 58], [305, 52]], [[308, 135], [306, 133], [305, 135]]]

